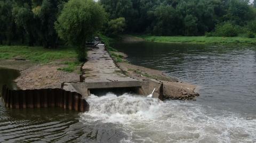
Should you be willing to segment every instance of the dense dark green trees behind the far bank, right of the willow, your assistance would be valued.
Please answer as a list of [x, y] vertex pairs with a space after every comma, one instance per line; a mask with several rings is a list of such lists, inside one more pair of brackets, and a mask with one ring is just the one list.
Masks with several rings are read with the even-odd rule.
[[[225, 23], [246, 28], [256, 16], [255, 1], [253, 7], [249, 0], [100, 0], [100, 3], [110, 19], [125, 18], [126, 32], [154, 35], [204, 35], [216, 26], [230, 28]], [[231, 36], [236, 32], [230, 33]]]

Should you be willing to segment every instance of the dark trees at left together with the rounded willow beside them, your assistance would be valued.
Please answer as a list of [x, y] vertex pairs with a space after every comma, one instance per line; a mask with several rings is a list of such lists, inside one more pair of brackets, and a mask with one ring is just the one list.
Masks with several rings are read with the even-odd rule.
[[0, 45], [68, 44], [85, 61], [86, 41], [106, 21], [105, 10], [93, 0], [0, 0]]

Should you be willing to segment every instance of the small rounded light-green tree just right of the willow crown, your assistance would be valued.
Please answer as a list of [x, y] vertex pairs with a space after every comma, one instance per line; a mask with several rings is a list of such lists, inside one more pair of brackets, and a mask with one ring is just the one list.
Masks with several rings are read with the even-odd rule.
[[119, 34], [124, 31], [125, 18], [113, 19], [108, 22], [109, 32], [113, 35]]

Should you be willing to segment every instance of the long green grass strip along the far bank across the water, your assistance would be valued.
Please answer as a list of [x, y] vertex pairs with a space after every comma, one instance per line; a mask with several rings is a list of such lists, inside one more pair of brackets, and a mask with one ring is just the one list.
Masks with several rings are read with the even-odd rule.
[[159, 43], [200, 43], [200, 44], [256, 44], [256, 38], [205, 37], [205, 36], [137, 36], [146, 41]]

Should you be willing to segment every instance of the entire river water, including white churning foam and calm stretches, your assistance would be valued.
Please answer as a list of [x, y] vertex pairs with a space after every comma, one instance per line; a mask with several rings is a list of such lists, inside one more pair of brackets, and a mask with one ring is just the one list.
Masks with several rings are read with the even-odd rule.
[[[10, 110], [0, 102], [0, 142], [256, 142], [255, 47], [142, 42], [115, 48], [133, 64], [199, 85], [200, 96], [162, 102], [92, 95], [86, 113]], [[0, 70], [0, 78], [7, 72]]]

